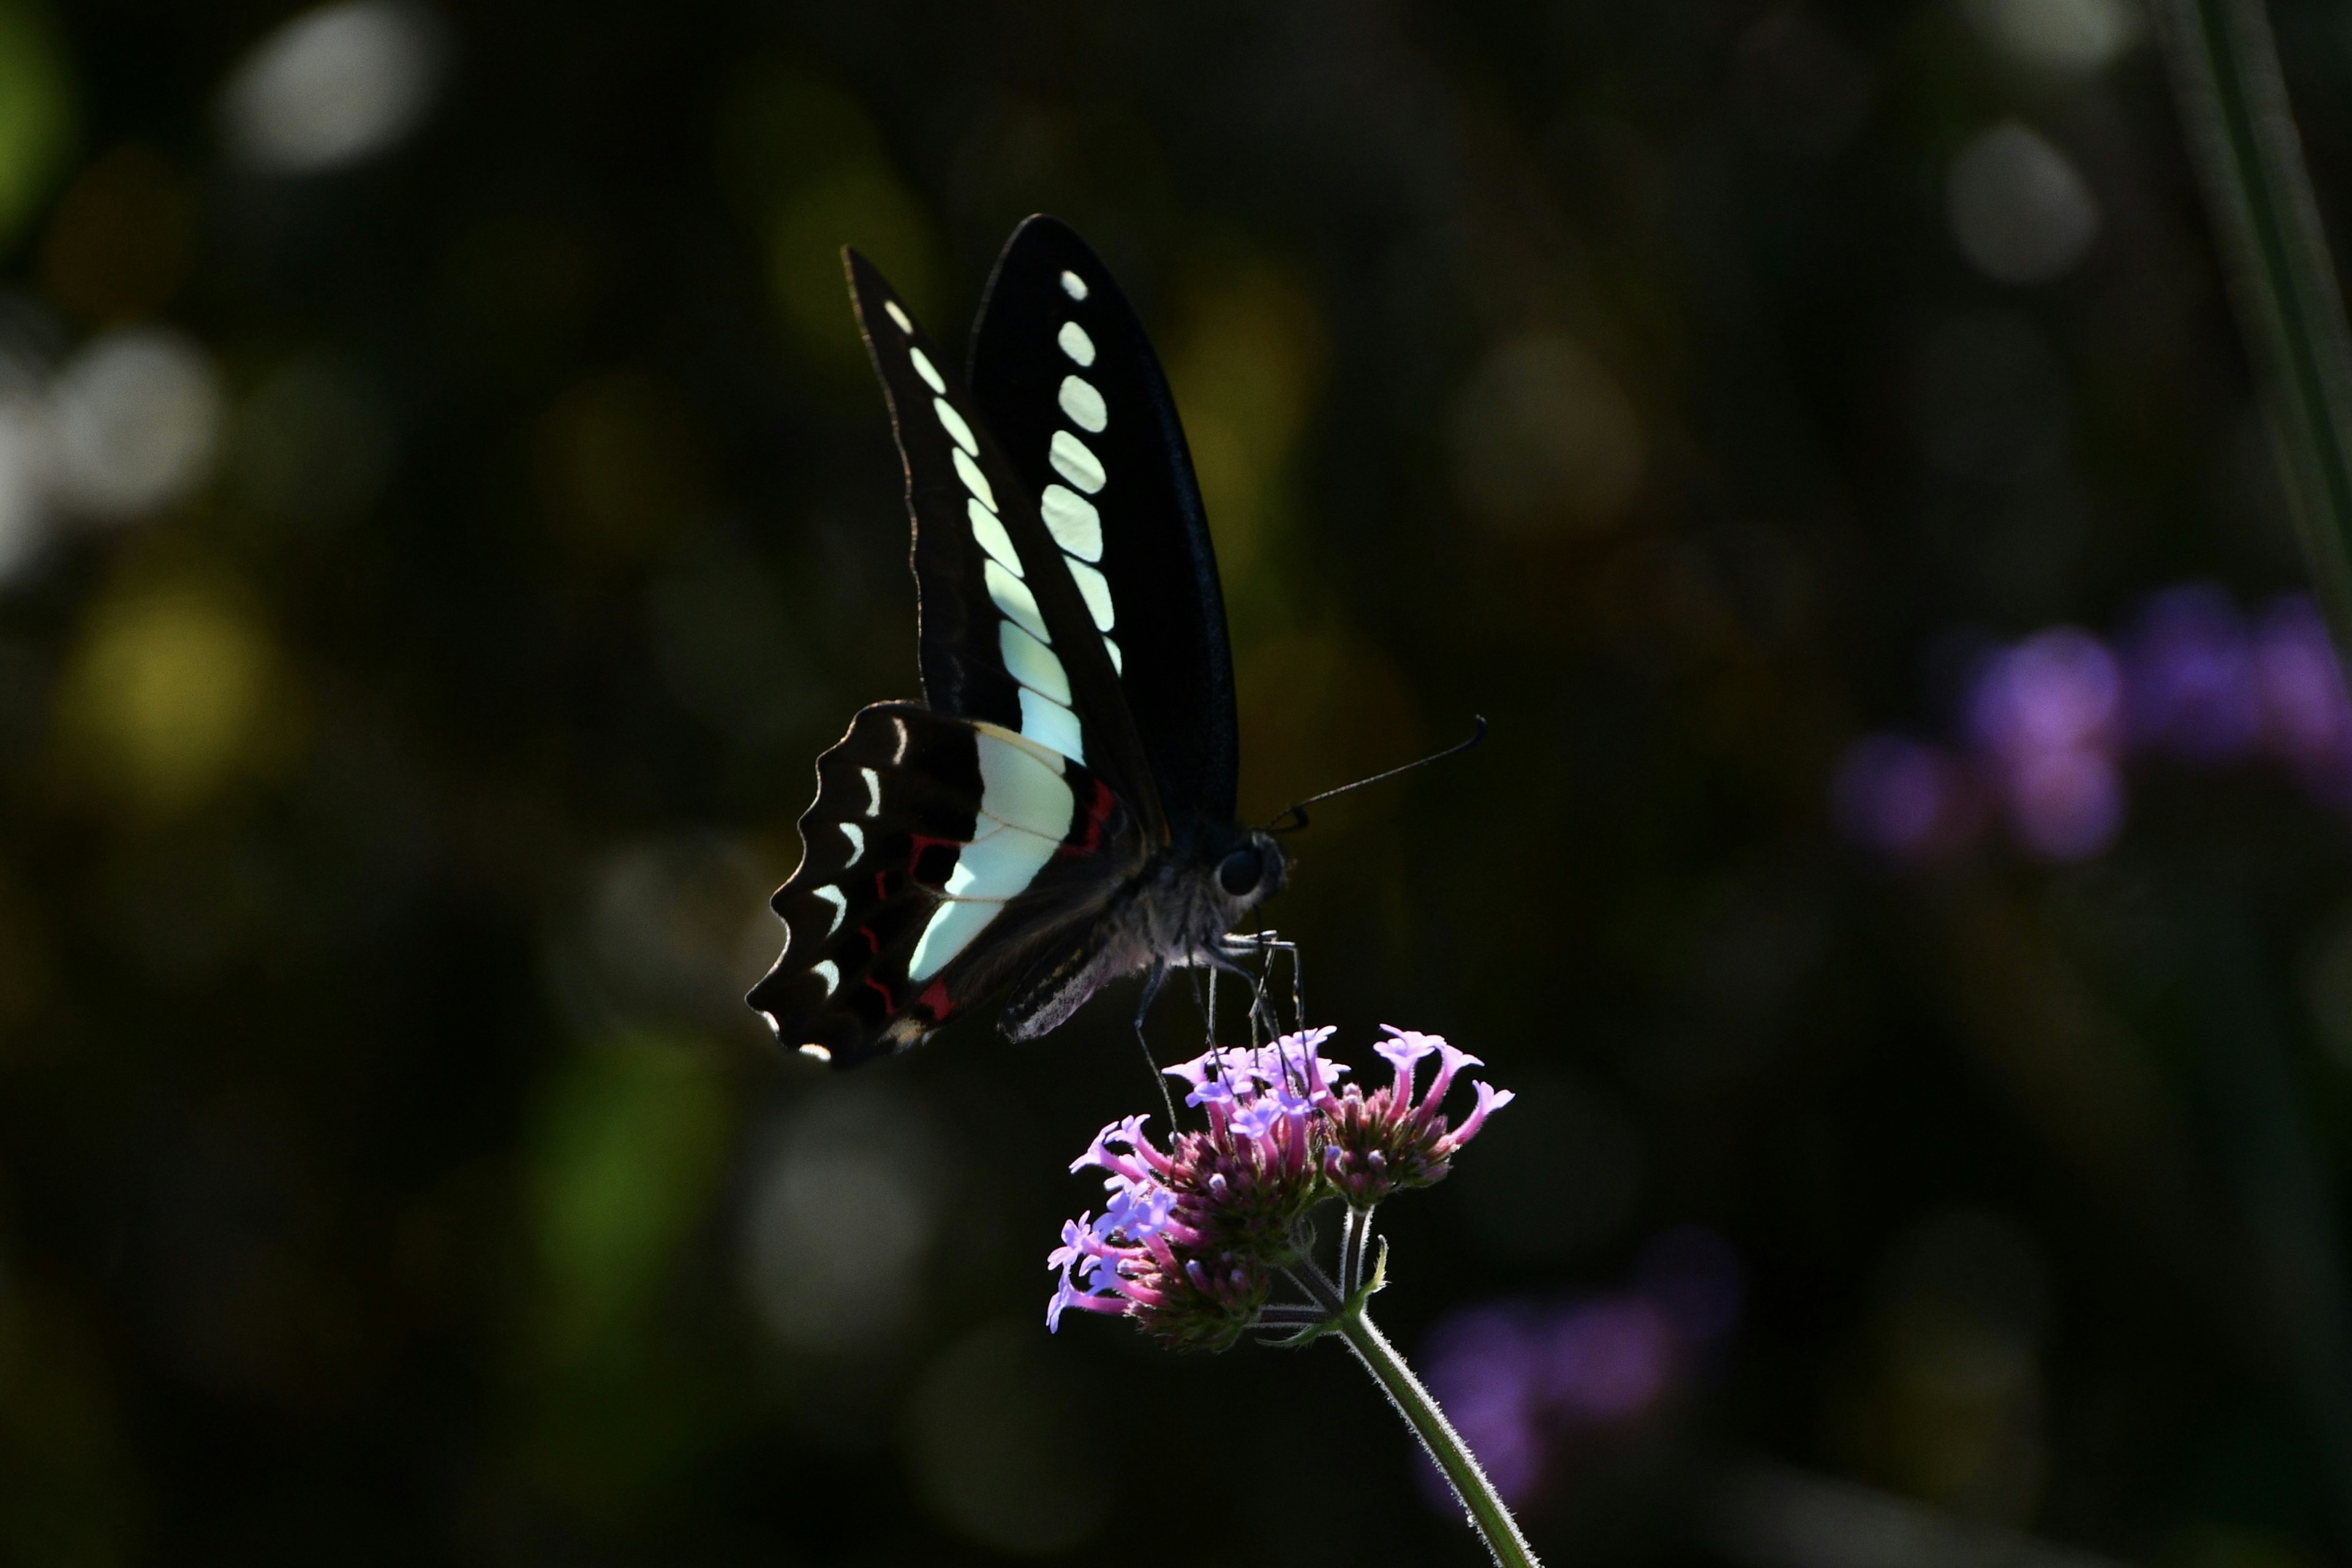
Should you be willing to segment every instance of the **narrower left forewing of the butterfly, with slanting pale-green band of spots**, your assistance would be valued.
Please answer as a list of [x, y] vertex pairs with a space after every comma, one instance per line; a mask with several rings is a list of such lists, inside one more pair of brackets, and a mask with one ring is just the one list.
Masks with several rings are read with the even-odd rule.
[[873, 263], [856, 252], [847, 263], [906, 461], [927, 703], [1091, 766], [1164, 837], [1115, 654], [1040, 522], [1035, 489]]

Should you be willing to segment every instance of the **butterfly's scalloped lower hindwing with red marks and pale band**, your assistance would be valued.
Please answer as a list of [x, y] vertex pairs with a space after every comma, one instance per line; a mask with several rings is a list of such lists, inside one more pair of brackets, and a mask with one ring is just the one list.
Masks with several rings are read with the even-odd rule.
[[837, 1067], [915, 1044], [1094, 922], [1148, 856], [1091, 769], [1000, 724], [877, 703], [818, 757], [783, 957], [750, 992]]

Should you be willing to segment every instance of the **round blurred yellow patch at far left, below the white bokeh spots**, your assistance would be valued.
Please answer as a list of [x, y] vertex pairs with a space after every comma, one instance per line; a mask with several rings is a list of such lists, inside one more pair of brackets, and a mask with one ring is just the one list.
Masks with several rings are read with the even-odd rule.
[[66, 773], [141, 816], [179, 816], [287, 750], [289, 684], [254, 607], [216, 578], [118, 590], [59, 689]]

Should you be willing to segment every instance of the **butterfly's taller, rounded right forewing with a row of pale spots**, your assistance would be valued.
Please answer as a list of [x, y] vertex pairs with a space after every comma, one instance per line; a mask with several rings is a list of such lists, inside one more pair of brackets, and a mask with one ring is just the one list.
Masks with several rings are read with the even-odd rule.
[[1230, 820], [1232, 654], [1192, 456], [1143, 322], [1058, 219], [997, 259], [971, 395], [1117, 649], [1169, 816]]

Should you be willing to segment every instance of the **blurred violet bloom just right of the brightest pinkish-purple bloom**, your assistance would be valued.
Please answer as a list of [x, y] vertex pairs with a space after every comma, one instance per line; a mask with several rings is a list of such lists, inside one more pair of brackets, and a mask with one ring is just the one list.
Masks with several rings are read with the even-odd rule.
[[2124, 708], [2133, 745], [2218, 766], [2256, 741], [2256, 658], [2246, 623], [2218, 583], [2147, 599], [2124, 639]]

